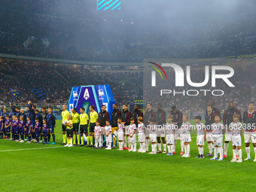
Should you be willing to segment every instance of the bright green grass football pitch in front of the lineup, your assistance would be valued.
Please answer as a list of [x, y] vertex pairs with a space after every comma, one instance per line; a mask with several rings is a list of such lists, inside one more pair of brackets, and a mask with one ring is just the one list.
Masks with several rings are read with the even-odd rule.
[[[194, 122], [191, 122], [194, 123]], [[56, 145], [0, 140], [1, 191], [254, 191], [256, 163], [230, 163], [195, 158], [196, 135], [191, 134], [190, 158], [176, 154], [141, 154], [84, 147], [64, 148], [61, 121], [56, 123]], [[243, 136], [242, 136], [243, 138]], [[51, 140], [52, 141], [52, 140]], [[139, 143], [137, 144], [139, 148]], [[151, 145], [150, 145], [151, 151]], [[208, 154], [208, 145], [204, 146]], [[242, 159], [245, 159], [242, 141]]]

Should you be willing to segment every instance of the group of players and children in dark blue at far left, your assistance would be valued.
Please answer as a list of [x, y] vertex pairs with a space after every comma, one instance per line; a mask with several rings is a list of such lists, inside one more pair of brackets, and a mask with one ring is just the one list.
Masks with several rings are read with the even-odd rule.
[[[54, 127], [56, 117], [52, 114], [53, 109], [42, 108], [43, 116], [38, 108], [28, 102], [27, 114], [17, 106], [12, 106], [12, 112], [8, 114], [2, 106], [0, 116], [0, 139], [13, 140], [14, 142], [50, 144], [50, 135], [53, 137], [52, 145], [55, 145]], [[39, 141], [40, 138], [40, 141]], [[44, 138], [44, 142], [42, 139]]]

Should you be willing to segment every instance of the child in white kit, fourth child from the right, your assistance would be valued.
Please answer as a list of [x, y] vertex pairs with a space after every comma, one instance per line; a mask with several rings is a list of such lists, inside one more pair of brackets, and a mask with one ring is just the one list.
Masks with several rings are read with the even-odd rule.
[[183, 123], [181, 125], [181, 138], [184, 142], [184, 151], [185, 153], [181, 157], [190, 157], [190, 145], [189, 142], [191, 142], [191, 136], [190, 131], [192, 130], [191, 124], [187, 121], [188, 116], [186, 114], [183, 115]]

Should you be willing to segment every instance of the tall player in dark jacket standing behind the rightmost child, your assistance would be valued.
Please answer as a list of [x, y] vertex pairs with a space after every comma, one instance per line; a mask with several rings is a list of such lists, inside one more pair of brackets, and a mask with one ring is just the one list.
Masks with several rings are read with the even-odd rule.
[[[242, 115], [241, 115], [241, 112], [239, 111], [239, 109], [236, 108], [236, 104], [235, 102], [231, 101], [229, 103], [229, 108], [226, 109], [224, 111], [224, 114], [223, 114], [223, 124], [224, 126], [226, 126], [226, 129], [228, 126], [230, 126], [230, 123], [233, 122], [233, 115], [234, 114], [239, 114], [239, 122], [242, 122]], [[225, 142], [224, 142], [224, 155], [223, 155], [223, 158], [227, 158], [227, 148], [228, 148], [228, 143], [231, 141], [231, 133], [230, 131], [226, 130], [226, 133], [225, 133]], [[236, 148], [237, 150], [237, 148]], [[237, 153], [238, 154], [238, 153]], [[237, 157], [236, 157], [237, 158]]]

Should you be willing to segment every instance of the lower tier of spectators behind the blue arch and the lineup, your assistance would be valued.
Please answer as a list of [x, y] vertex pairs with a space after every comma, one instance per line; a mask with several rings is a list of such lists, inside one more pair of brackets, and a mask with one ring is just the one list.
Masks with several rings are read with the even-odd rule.
[[[93, 67], [75, 68], [72, 66], [56, 66], [44, 63], [33, 64], [28, 62], [3, 61], [0, 65], [0, 72], [2, 72], [0, 73], [2, 84], [0, 102], [27, 102], [31, 100], [33, 103], [67, 103], [69, 102], [72, 87], [87, 84], [110, 84], [117, 103], [130, 103], [134, 99], [144, 99], [147, 102], [152, 102], [154, 105], [161, 103], [163, 108], [177, 105], [181, 111], [204, 113], [207, 105], [206, 101], [215, 100], [216, 107], [223, 110], [227, 108], [230, 100], [233, 100], [236, 102], [236, 107], [244, 111], [247, 108], [248, 102], [255, 102], [255, 81], [252, 78], [255, 74], [255, 67], [239, 66], [233, 67], [233, 69], [236, 75], [230, 81], [233, 82], [235, 88], [228, 87], [224, 81], [217, 81], [218, 86], [214, 89], [213, 87], [209, 87], [211, 81], [205, 87], [200, 88], [206, 90], [224, 90], [224, 96], [212, 96], [211, 93], [208, 93], [207, 96], [204, 96], [203, 93], [200, 93], [199, 96], [173, 96], [173, 94], [159, 96], [161, 87], [154, 88], [158, 89], [158, 91], [151, 91], [151, 84], [145, 84], [146, 78], [143, 79], [143, 75], [145, 74], [141, 69], [96, 70]], [[168, 77], [173, 76], [173, 72], [168, 70], [166, 72]], [[151, 75], [148, 77], [150, 78]], [[205, 78], [204, 72], [197, 70], [191, 70], [191, 77], [194, 77], [192, 78], [194, 82], [203, 82]], [[160, 78], [160, 75], [157, 75], [157, 82], [164, 82], [158, 78]], [[175, 84], [174, 81], [175, 78], [169, 78], [169, 87], [173, 87], [172, 85]], [[20, 96], [17, 99], [13, 99], [10, 88], [20, 91]], [[47, 99], [39, 101], [31, 91], [35, 88], [44, 89], [45, 93], [47, 93]], [[195, 87], [191, 88], [185, 81], [184, 90], [191, 89], [194, 90]]]

